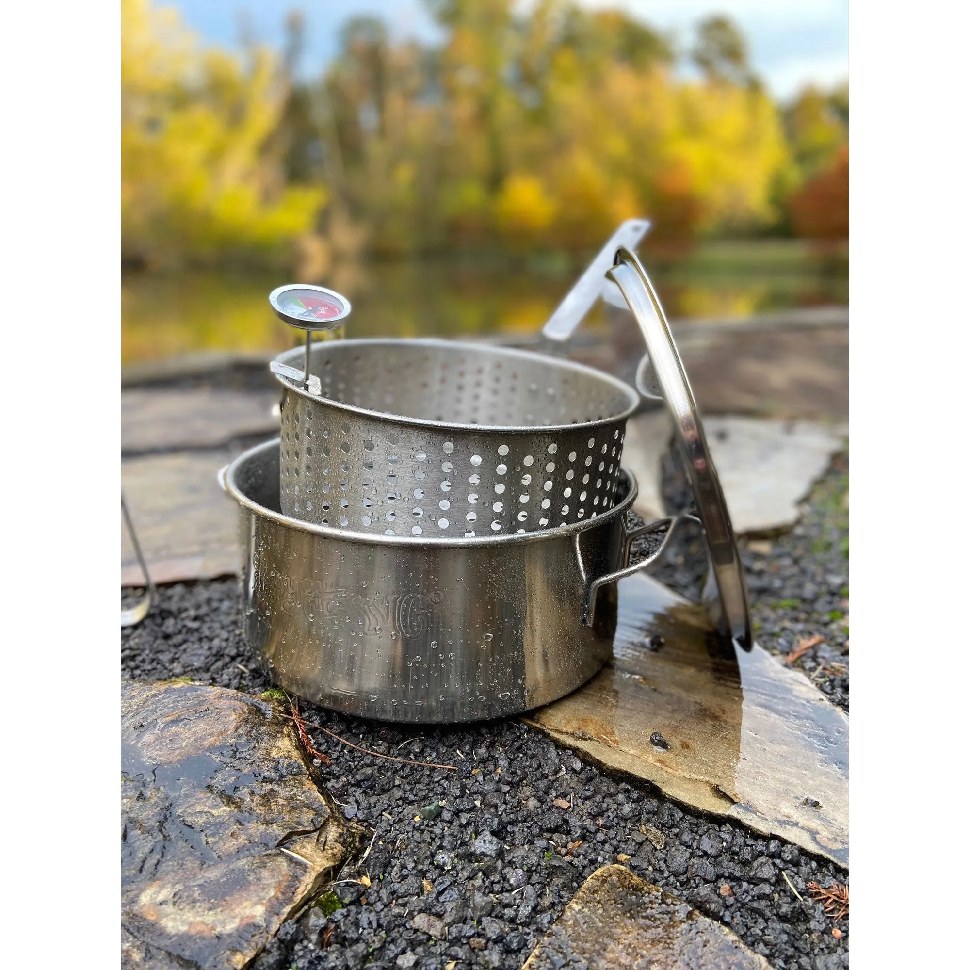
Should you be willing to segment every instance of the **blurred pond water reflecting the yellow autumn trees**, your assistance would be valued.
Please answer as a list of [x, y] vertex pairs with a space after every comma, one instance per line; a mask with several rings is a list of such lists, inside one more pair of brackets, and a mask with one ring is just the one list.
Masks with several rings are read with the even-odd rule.
[[[303, 281], [350, 298], [348, 337], [529, 333], [542, 326], [584, 265], [566, 257], [347, 264], [326, 279]], [[845, 259], [813, 253], [802, 242], [710, 243], [684, 259], [648, 258], [646, 265], [674, 317], [747, 316], [848, 301]], [[265, 273], [125, 275], [122, 359], [292, 346], [296, 338], [266, 299], [289, 281]], [[601, 322], [598, 307], [588, 325]]]

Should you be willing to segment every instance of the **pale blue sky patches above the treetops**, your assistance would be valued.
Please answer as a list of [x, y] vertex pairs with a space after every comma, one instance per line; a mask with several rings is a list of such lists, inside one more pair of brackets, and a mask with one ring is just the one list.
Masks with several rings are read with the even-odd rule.
[[[158, 0], [156, 0], [158, 2]], [[775, 97], [788, 100], [805, 84], [831, 87], [849, 77], [849, 0], [579, 0], [584, 7], [620, 7], [690, 46], [695, 23], [726, 14], [748, 39], [752, 65]], [[436, 40], [424, 0], [166, 0], [209, 44], [234, 48], [241, 25], [256, 40], [283, 42], [293, 9], [306, 18], [305, 75], [318, 74], [337, 51], [340, 24], [355, 15], [381, 16], [398, 38]], [[688, 69], [685, 69], [688, 70]]]

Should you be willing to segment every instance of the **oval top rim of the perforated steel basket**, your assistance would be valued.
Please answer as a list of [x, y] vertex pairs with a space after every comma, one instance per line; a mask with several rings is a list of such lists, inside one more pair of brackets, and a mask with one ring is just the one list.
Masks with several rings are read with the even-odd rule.
[[[321, 343], [327, 341], [320, 341]], [[480, 343], [469, 343], [461, 340], [443, 340], [433, 337], [415, 337], [415, 338], [389, 338], [389, 337], [358, 337], [349, 340], [339, 340], [334, 341], [339, 342], [340, 346], [360, 346], [364, 344], [393, 344], [399, 345], [402, 343], [416, 343], [422, 346], [431, 347], [448, 347], [449, 349], [465, 350], [469, 353], [492, 353], [498, 356], [508, 356], [508, 357], [519, 357], [525, 359], [534, 360], [536, 357], [545, 362], [551, 363], [556, 367], [561, 367], [566, 371], [578, 371], [581, 373], [588, 374], [593, 377], [597, 377], [604, 383], [611, 384], [617, 391], [621, 392], [626, 396], [628, 404], [626, 408], [618, 411], [616, 414], [611, 415], [608, 418], [599, 418], [596, 421], [579, 421], [575, 424], [565, 424], [565, 425], [484, 425], [484, 424], [458, 424], [457, 422], [451, 421], [433, 421], [430, 418], [410, 418], [404, 414], [392, 414], [389, 411], [374, 411], [369, 407], [360, 407], [357, 404], [345, 404], [342, 401], [335, 401], [333, 398], [324, 398], [320, 395], [310, 394], [310, 392], [297, 384], [291, 384], [286, 378], [280, 376], [278, 373], [274, 374], [276, 380], [283, 385], [288, 391], [292, 391], [294, 394], [299, 394], [301, 397], [307, 398], [308, 401], [315, 401], [321, 404], [329, 404], [331, 407], [336, 407], [338, 410], [346, 411], [350, 414], [362, 414], [369, 418], [374, 418], [379, 421], [391, 421], [394, 424], [401, 425], [417, 425], [422, 428], [436, 428], [440, 431], [460, 431], [460, 432], [487, 432], [496, 433], [502, 435], [541, 435], [547, 432], [558, 432], [558, 431], [578, 431], [580, 429], [588, 428], [599, 428], [603, 425], [612, 424], [616, 421], [624, 421], [630, 417], [630, 414], [636, 410], [637, 406], [640, 404], [639, 394], [630, 387], [625, 381], [620, 380], [618, 377], [614, 377], [610, 373], [603, 371], [598, 371], [596, 368], [587, 367], [585, 364], [577, 364], [575, 361], [566, 360], [565, 358], [552, 357], [549, 354], [538, 353], [534, 350], [520, 350], [517, 347], [496, 347], [490, 344], [480, 344]], [[293, 347], [290, 350], [284, 350], [275, 359], [280, 363], [288, 363], [289, 358], [300, 359], [304, 354], [303, 347]]]

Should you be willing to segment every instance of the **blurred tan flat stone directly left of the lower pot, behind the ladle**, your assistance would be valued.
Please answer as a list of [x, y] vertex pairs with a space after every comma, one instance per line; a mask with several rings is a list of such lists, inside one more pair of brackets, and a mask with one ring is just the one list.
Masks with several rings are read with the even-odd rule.
[[[231, 457], [228, 451], [195, 451], [122, 461], [125, 501], [156, 583], [239, 572], [237, 505], [216, 480]], [[124, 532], [121, 585], [144, 585]]]

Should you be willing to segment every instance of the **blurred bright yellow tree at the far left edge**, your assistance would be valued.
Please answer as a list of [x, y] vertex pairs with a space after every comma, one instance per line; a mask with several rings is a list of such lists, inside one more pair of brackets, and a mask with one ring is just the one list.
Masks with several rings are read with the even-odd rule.
[[196, 48], [175, 12], [122, 0], [122, 257], [151, 266], [282, 260], [326, 197], [287, 186], [266, 148], [285, 80], [265, 50], [249, 64]]

